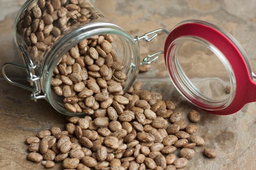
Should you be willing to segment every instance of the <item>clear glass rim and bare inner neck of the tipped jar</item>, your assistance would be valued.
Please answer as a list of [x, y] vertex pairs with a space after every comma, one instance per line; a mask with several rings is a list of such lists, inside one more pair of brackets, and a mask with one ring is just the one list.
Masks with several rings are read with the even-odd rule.
[[[120, 56], [121, 62], [125, 65], [124, 72], [127, 75], [126, 85], [123, 91], [126, 92], [134, 83], [140, 66], [140, 51], [134, 39], [121, 27], [102, 21], [94, 21], [86, 25], [80, 25], [58, 40], [52, 46], [51, 51], [45, 53], [45, 62], [41, 67], [41, 86], [46, 96], [46, 100], [60, 113], [68, 116], [83, 116], [85, 113], [71, 113], [64, 108], [63, 98], [58, 96], [51, 87], [51, 77], [54, 68], [58, 65], [62, 55], [77, 45], [81, 40], [95, 35], [111, 34], [117, 38], [117, 43], [113, 45], [113, 50]], [[115, 49], [114, 49], [115, 47]]]

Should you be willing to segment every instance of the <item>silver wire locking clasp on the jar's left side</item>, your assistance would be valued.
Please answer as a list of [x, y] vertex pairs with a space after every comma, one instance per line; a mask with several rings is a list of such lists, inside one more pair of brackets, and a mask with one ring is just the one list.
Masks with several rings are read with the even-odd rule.
[[[5, 63], [2, 67], [3, 77], [6, 79], [6, 81], [8, 81], [12, 85], [17, 85], [21, 88], [32, 91], [32, 93], [30, 95], [30, 98], [32, 100], [34, 100], [35, 102], [38, 99], [46, 99], [45, 95], [40, 95], [40, 93], [41, 93], [40, 77], [35, 75], [35, 68], [37, 66], [30, 59], [30, 57], [28, 56], [27, 52], [23, 49], [23, 47], [22, 46], [19, 46], [19, 47], [20, 47], [20, 51], [21, 51], [22, 56], [23, 56], [23, 62], [25, 64], [25, 66], [21, 66], [21, 65], [16, 64], [16, 63]], [[27, 71], [26, 80], [28, 82], [30, 82], [30, 86], [22, 85], [20, 83], [12, 81], [5, 73], [5, 68], [7, 66], [13, 66], [13, 67], [17, 67], [17, 68], [20, 68], [20, 69], [25, 69]]]

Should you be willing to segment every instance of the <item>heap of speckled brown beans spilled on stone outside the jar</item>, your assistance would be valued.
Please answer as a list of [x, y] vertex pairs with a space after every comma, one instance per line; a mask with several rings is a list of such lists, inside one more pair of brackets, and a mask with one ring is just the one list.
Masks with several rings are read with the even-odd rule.
[[[27, 158], [46, 168], [61, 162], [64, 169], [77, 170], [176, 170], [186, 167], [204, 147], [197, 136], [200, 115], [178, 112], [158, 92], [142, 90], [136, 82], [123, 96], [113, 95], [107, 108], [90, 116], [67, 117], [65, 130], [53, 127], [27, 138]], [[189, 121], [184, 120], [188, 116]], [[215, 150], [204, 148], [210, 158]]]

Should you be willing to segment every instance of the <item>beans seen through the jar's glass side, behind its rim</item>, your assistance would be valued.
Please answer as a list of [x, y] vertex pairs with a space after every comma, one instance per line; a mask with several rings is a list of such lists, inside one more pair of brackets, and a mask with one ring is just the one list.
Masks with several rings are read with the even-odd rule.
[[88, 0], [35, 0], [20, 15], [17, 32], [37, 63], [61, 35], [99, 17]]

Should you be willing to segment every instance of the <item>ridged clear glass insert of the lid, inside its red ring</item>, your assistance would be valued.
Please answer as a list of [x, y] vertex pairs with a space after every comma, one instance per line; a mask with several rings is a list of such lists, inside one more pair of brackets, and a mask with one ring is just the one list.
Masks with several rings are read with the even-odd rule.
[[[181, 36], [167, 51], [170, 78], [183, 97], [207, 110], [220, 110], [230, 105], [235, 97], [236, 78], [230, 63], [217, 47], [197, 36]], [[211, 67], [215, 64], [218, 68]], [[199, 66], [206, 70], [200, 70]], [[217, 69], [220, 74], [216, 73]], [[225, 88], [229, 88], [228, 93]]]

